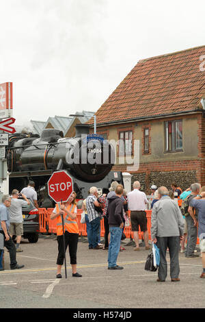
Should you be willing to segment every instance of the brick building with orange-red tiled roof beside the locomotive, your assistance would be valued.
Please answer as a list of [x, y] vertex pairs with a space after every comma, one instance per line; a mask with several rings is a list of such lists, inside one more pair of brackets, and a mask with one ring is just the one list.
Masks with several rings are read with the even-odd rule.
[[[126, 171], [123, 149], [139, 169], [143, 190], [176, 181], [205, 185], [205, 46], [139, 60], [96, 112], [97, 132], [123, 140], [113, 169]], [[92, 123], [92, 120], [90, 121]]]

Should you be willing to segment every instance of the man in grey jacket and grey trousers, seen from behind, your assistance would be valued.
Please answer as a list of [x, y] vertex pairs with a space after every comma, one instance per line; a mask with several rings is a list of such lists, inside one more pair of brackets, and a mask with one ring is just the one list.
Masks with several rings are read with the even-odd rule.
[[184, 221], [178, 205], [168, 196], [166, 187], [158, 189], [159, 201], [154, 203], [151, 218], [152, 241], [160, 249], [160, 264], [157, 282], [165, 282], [167, 277], [167, 247], [170, 256], [170, 276], [172, 282], [180, 282], [178, 252], [180, 239], [184, 234]]

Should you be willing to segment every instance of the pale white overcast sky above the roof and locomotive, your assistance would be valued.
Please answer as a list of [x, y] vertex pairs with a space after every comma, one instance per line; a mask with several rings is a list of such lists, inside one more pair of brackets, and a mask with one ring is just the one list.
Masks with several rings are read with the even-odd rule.
[[138, 60], [205, 45], [204, 0], [0, 4], [0, 84], [13, 82], [17, 125], [95, 112]]

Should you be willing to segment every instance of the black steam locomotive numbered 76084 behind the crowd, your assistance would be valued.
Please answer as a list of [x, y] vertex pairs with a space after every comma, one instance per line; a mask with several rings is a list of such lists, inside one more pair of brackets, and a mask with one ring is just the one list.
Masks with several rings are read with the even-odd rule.
[[77, 199], [84, 199], [91, 186], [102, 193], [114, 180], [122, 184], [122, 173], [113, 172], [113, 147], [98, 134], [89, 134], [89, 125], [77, 124], [76, 136], [64, 138], [59, 129], [38, 134], [12, 134], [7, 149], [10, 192], [35, 182], [39, 205], [49, 208], [47, 182], [53, 171], [64, 169], [72, 176]]

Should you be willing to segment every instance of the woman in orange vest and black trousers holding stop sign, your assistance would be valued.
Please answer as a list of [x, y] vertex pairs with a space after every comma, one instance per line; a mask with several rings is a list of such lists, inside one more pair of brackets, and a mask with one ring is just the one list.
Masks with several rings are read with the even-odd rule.
[[[79, 241], [79, 227], [77, 225], [77, 201], [76, 193], [73, 191], [69, 199], [65, 203], [55, 205], [55, 209], [51, 214], [51, 219], [57, 219], [57, 278], [61, 278], [61, 266], [64, 264], [64, 237], [65, 234], [65, 251], [69, 248], [70, 264], [72, 267], [72, 276], [81, 277], [77, 273], [77, 245]], [[62, 225], [61, 215], [64, 216], [64, 227]]]

